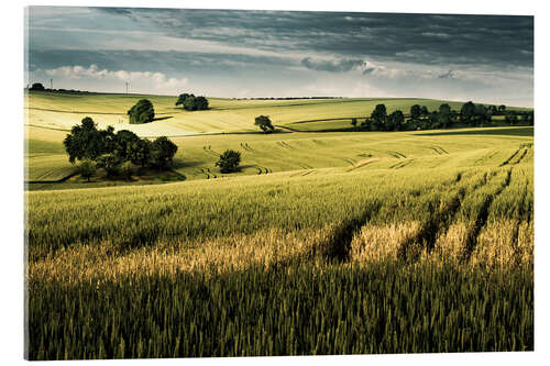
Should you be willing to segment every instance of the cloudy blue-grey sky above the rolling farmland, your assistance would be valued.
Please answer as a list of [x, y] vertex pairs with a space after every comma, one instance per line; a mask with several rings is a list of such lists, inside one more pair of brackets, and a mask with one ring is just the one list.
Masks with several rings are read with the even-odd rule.
[[207, 97], [534, 104], [534, 19], [30, 7], [26, 82]]

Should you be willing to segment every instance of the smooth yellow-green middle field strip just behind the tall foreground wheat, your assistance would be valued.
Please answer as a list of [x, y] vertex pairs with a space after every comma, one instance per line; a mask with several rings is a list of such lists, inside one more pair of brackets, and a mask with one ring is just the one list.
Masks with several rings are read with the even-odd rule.
[[[63, 147], [67, 132], [34, 126], [26, 130], [30, 177], [40, 179], [48, 169], [55, 174], [61, 166], [70, 167]], [[173, 169], [187, 180], [196, 180], [283, 171], [294, 171], [297, 177], [332, 168], [348, 171], [496, 165], [517, 144], [532, 141], [532, 127], [492, 127], [172, 137], [178, 145]], [[215, 166], [226, 149], [241, 152], [242, 165], [238, 173], [223, 175]], [[38, 155], [41, 159], [36, 160]], [[44, 156], [50, 156], [47, 162]]]

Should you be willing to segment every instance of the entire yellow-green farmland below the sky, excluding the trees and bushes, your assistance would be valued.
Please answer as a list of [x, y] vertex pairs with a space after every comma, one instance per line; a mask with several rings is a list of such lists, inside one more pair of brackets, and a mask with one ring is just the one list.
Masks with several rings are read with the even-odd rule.
[[[31, 359], [534, 348], [532, 127], [264, 135], [258, 114], [442, 101], [147, 98], [170, 118], [138, 133], [170, 135], [185, 181], [25, 193]], [[72, 175], [59, 130], [135, 100], [31, 93], [28, 180]], [[240, 173], [215, 168], [227, 148]]]

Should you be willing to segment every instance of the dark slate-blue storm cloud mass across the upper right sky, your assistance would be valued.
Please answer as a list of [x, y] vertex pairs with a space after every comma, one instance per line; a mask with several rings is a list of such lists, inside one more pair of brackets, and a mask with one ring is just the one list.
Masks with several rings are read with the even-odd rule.
[[532, 16], [118, 9], [166, 35], [421, 64], [532, 67]]

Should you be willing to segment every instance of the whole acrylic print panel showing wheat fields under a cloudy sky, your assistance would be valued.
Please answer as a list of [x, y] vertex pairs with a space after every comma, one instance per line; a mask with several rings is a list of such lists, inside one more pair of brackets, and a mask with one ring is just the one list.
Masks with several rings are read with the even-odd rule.
[[534, 350], [534, 18], [30, 7], [26, 357]]

